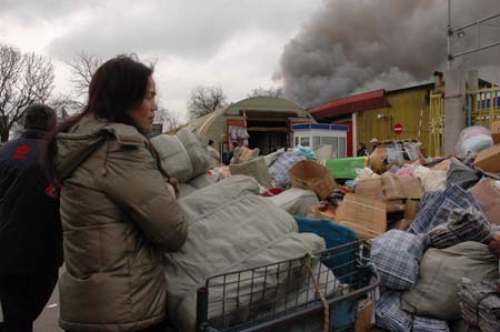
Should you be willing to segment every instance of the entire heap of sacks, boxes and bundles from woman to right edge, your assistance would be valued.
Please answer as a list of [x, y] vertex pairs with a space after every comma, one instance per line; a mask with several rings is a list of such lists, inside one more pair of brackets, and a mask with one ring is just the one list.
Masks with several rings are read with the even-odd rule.
[[[382, 171], [357, 169], [358, 178], [343, 182], [333, 179], [331, 170], [302, 147], [264, 157], [243, 149], [236, 153], [229, 168], [209, 171], [208, 162], [199, 168], [202, 144], [189, 137], [178, 133], [176, 139], [153, 139], [166, 169], [181, 179], [184, 199], [180, 202], [192, 219], [190, 229], [200, 228], [190, 232], [192, 239], [181, 252], [167, 256], [172, 266], [166, 271], [167, 280], [172, 281], [171, 315], [187, 315], [180, 318], [186, 331], [192, 330], [196, 289], [214, 273], [261, 262], [260, 256], [251, 255], [252, 250], [268, 248], [266, 243], [276, 243], [283, 233], [296, 240], [277, 244], [280, 254], [271, 252], [268, 256], [272, 259], [266, 262], [324, 248], [321, 238], [298, 233], [291, 215], [329, 219], [372, 242], [371, 261], [381, 275], [380, 294], [374, 296], [376, 325], [388, 331], [500, 331], [500, 181], [494, 179], [500, 173], [500, 145], [493, 145], [492, 140], [487, 143], [483, 137], [476, 138], [466, 144], [468, 148], [458, 147], [458, 158], [432, 164], [422, 165], [419, 158], [412, 163], [386, 164]], [[166, 148], [166, 143], [171, 147]], [[473, 151], [462, 153], [463, 149]], [[176, 169], [181, 154], [190, 170]], [[236, 175], [251, 177], [253, 182]], [[338, 185], [339, 182], [344, 185]], [[251, 211], [231, 212], [233, 202]], [[283, 209], [289, 213], [283, 213]], [[200, 234], [210, 230], [209, 223], [198, 221], [210, 219], [212, 213], [212, 222], [226, 218], [226, 224], [220, 221], [220, 229], [242, 221], [233, 231], [213, 237], [217, 243], [232, 243], [228, 252], [234, 248], [243, 250], [237, 255], [244, 259], [224, 261], [214, 255], [213, 261], [203, 261], [211, 242]], [[242, 220], [241, 215], [249, 218]], [[269, 224], [277, 228], [274, 233], [267, 230]], [[238, 229], [253, 234], [243, 247], [233, 243], [232, 234]], [[197, 250], [200, 256], [190, 256]], [[196, 273], [189, 270], [192, 266]]]

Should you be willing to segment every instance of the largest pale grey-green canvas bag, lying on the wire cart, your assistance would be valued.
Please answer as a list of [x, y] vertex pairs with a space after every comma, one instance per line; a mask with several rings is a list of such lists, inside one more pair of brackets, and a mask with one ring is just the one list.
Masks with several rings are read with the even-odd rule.
[[[164, 273], [168, 312], [181, 331], [194, 330], [196, 291], [208, 278], [324, 249], [321, 238], [298, 233], [293, 218], [258, 192], [254, 179], [234, 175], [179, 200], [189, 234], [180, 251], [166, 254]], [[272, 278], [267, 282], [259, 286], [283, 284]]]

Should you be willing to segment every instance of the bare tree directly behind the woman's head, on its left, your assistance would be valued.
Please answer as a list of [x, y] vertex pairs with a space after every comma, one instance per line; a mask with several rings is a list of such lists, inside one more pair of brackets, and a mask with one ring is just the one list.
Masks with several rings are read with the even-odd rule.
[[71, 83], [74, 97], [81, 98], [89, 91], [90, 80], [93, 73], [102, 64], [102, 59], [96, 54], [88, 54], [80, 51], [74, 58], [64, 61], [71, 68]]

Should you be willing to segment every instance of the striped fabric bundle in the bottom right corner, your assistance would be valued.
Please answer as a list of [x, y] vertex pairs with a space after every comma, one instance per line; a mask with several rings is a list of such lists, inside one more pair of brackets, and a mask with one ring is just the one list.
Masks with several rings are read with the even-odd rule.
[[500, 331], [500, 293], [494, 282], [463, 282], [458, 295], [466, 322], [482, 332]]

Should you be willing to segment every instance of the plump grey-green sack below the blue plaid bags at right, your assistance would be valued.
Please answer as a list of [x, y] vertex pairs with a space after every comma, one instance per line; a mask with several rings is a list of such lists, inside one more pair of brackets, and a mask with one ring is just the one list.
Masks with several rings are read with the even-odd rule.
[[429, 249], [420, 263], [419, 281], [402, 295], [401, 309], [451, 321], [460, 319], [457, 285], [462, 278], [472, 282], [498, 279], [498, 259], [488, 245], [462, 242], [447, 249]]

